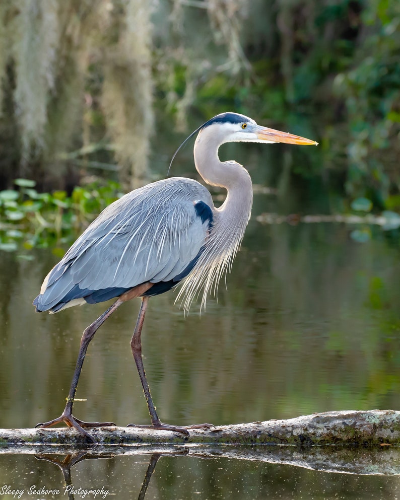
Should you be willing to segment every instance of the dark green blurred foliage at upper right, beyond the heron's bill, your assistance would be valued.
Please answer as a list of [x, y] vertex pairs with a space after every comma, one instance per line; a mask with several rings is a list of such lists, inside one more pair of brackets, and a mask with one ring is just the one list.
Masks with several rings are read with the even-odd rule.
[[374, 211], [399, 211], [400, 3], [277, 2], [274, 20], [269, 49], [262, 40], [245, 45], [250, 78], [216, 73], [194, 106], [206, 116], [222, 105], [256, 109], [263, 121], [315, 138], [317, 150], [294, 153], [303, 161], [292, 175], [328, 178], [348, 209], [365, 197]]

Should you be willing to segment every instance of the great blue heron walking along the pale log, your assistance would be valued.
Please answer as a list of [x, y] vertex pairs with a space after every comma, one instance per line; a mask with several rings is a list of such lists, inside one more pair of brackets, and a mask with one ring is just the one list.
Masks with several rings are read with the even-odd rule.
[[55, 313], [78, 304], [115, 297], [117, 300], [83, 332], [64, 411], [58, 418], [37, 426], [65, 422], [95, 442], [83, 427], [114, 425], [78, 420], [72, 408], [89, 342], [123, 302], [136, 297], [141, 297], [142, 303], [130, 345], [151, 427], [188, 434], [187, 428], [210, 426], [168, 425], [157, 415], [142, 362], [141, 331], [149, 297], [167, 292], [183, 280], [178, 297], [185, 308], [201, 289], [205, 303], [208, 292], [217, 286], [238, 250], [250, 218], [253, 192], [245, 168], [235, 161], [219, 160], [218, 149], [224, 142], [317, 142], [261, 127], [237, 113], [215, 116], [188, 138], [196, 132], [193, 152], [197, 172], [208, 184], [227, 190], [219, 208], [214, 206], [209, 191], [192, 179], [173, 177], [135, 189], [105, 208], [45, 277], [40, 295], [33, 302], [36, 311]]

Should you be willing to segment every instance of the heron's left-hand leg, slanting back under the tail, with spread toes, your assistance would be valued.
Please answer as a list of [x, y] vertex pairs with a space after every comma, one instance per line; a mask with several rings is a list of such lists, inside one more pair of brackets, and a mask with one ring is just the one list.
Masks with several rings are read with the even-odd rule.
[[88, 349], [89, 342], [94, 337], [94, 334], [100, 328], [100, 326], [104, 323], [104, 321], [111, 316], [111, 314], [123, 303], [123, 300], [117, 299], [114, 304], [107, 309], [101, 316], [99, 316], [96, 321], [94, 321], [90, 326], [86, 328], [83, 332], [81, 339], [81, 346], [79, 348], [78, 360], [75, 367], [74, 377], [72, 379], [70, 393], [66, 398], [66, 404], [64, 411], [62, 414], [55, 418], [54, 420], [50, 420], [45, 423], [38, 423], [36, 427], [50, 427], [51, 425], [55, 425], [57, 423], [66, 423], [69, 427], [75, 427], [81, 434], [89, 438], [91, 441], [96, 443], [96, 440], [91, 436], [88, 432], [86, 432], [82, 427], [101, 427], [106, 425], [115, 425], [112, 422], [83, 422], [78, 418], [73, 417], [72, 415], [72, 407], [74, 405], [75, 393], [77, 391], [77, 385], [79, 381], [79, 376], [81, 374], [83, 362], [85, 360], [86, 351]]

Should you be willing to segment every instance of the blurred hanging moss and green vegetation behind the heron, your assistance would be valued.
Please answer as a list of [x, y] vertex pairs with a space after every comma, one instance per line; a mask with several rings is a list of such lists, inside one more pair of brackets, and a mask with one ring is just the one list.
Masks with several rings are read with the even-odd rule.
[[73, 207], [79, 225], [227, 110], [320, 143], [260, 183], [399, 211], [399, 25], [389, 0], [4, 0], [2, 220]]

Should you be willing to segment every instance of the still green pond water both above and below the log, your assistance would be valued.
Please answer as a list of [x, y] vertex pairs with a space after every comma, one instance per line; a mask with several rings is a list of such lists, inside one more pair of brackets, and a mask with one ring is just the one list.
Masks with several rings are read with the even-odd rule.
[[[254, 216], [264, 198], [256, 198]], [[371, 241], [356, 243], [353, 229], [262, 226], [254, 218], [218, 303], [211, 299], [201, 316], [194, 306], [185, 318], [173, 304], [176, 293], [152, 299], [142, 342], [161, 419], [219, 425], [327, 410], [398, 409], [399, 241], [375, 229]], [[50, 250], [33, 255], [28, 261], [3, 253], [0, 260], [2, 427], [32, 427], [60, 414], [81, 333], [105, 309], [86, 305], [36, 314], [31, 302], [57, 258]], [[138, 301], [121, 307], [89, 346], [77, 392], [84, 401], [74, 407], [78, 418], [148, 423], [129, 346], [138, 308]], [[136, 498], [148, 461], [87, 460], [72, 469], [73, 484]], [[0, 487], [24, 489], [23, 498], [66, 497], [53, 464], [3, 454], [0, 467]], [[222, 458], [161, 457], [153, 476], [147, 499], [396, 498], [399, 486], [397, 476]], [[61, 493], [28, 495], [32, 484]]]

